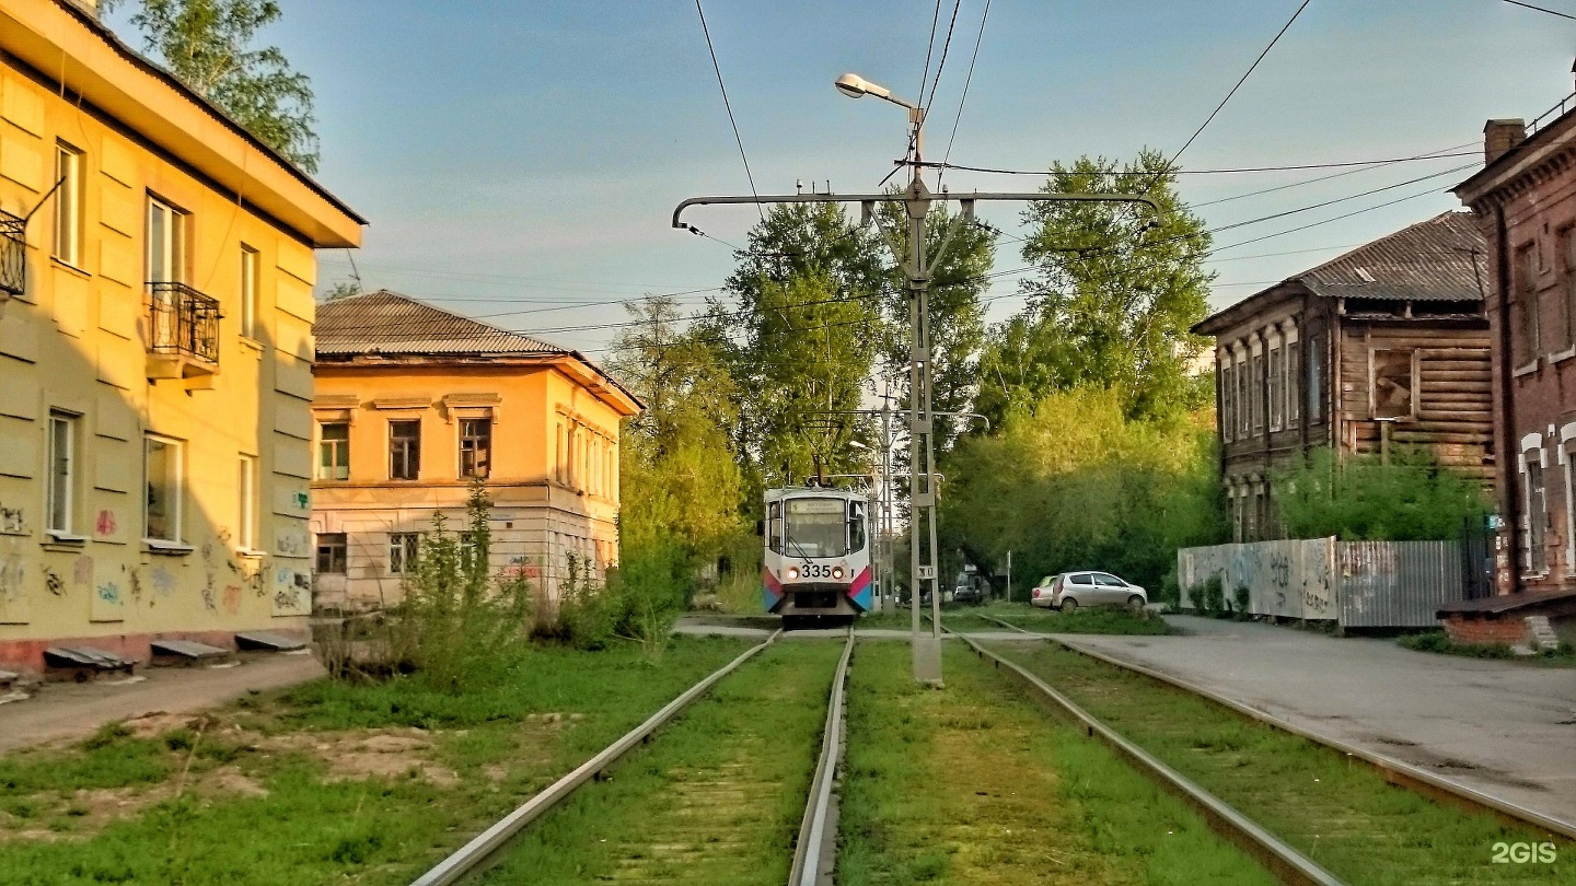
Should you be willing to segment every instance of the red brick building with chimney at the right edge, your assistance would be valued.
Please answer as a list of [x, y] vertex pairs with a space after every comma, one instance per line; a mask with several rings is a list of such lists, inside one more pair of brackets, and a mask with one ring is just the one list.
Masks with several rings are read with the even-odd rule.
[[1511, 596], [1458, 607], [1456, 627], [1576, 618], [1576, 96], [1530, 125], [1489, 120], [1483, 132], [1486, 166], [1455, 192], [1488, 241], [1494, 440], [1505, 456], [1496, 590]]

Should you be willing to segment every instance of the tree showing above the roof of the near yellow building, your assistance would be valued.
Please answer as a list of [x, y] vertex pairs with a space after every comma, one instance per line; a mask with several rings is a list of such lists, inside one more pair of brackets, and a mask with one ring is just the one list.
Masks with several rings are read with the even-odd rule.
[[[117, 5], [101, 3], [102, 8]], [[140, 0], [131, 20], [150, 52], [236, 123], [307, 172], [317, 172], [312, 84], [257, 32], [284, 14], [274, 0]]]

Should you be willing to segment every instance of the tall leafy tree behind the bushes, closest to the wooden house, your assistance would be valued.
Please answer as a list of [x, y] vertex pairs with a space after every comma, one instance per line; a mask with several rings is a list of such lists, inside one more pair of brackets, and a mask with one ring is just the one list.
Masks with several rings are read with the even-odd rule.
[[[1188, 328], [1209, 312], [1210, 236], [1176, 192], [1157, 151], [1117, 167], [1106, 158], [1056, 162], [1043, 191], [1147, 194], [1138, 203], [1032, 203], [1023, 259], [1028, 307], [990, 331], [980, 359], [982, 411], [993, 421], [1051, 391], [1122, 391], [1132, 416], [1188, 411], [1207, 400], [1188, 363], [1204, 347]], [[1150, 227], [1152, 224], [1152, 227]]]

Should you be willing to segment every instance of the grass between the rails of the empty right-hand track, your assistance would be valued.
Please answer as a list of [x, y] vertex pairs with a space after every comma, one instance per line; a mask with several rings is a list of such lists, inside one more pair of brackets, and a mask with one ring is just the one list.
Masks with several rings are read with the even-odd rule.
[[1497, 842], [1548, 837], [1436, 804], [1343, 754], [1070, 650], [994, 646], [1349, 883], [1576, 881], [1568, 842], [1556, 864], [1491, 864]]

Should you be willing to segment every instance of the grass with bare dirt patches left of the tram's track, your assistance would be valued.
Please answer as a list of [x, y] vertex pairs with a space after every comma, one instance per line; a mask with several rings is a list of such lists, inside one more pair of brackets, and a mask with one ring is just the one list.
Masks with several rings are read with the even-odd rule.
[[[16, 752], [0, 758], [0, 881], [408, 883], [747, 646], [679, 637], [657, 662], [533, 648], [455, 695], [318, 681], [214, 711], [202, 735], [107, 728]], [[421, 747], [367, 755], [400, 761], [383, 774], [334, 771], [334, 749], [369, 736]], [[123, 801], [129, 815], [104, 812]]]

